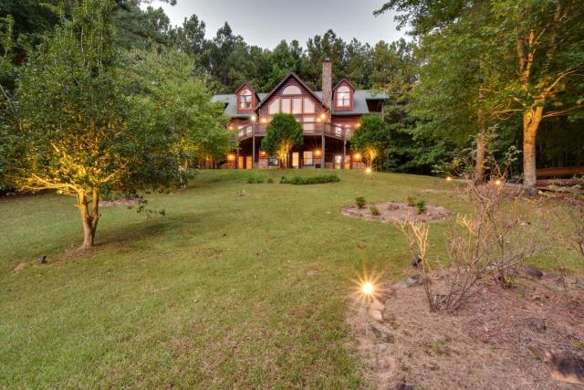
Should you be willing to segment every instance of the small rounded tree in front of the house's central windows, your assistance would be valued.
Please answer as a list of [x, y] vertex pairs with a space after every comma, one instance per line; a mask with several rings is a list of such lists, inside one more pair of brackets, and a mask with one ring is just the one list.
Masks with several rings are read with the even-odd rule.
[[303, 142], [302, 125], [294, 115], [276, 114], [267, 125], [262, 149], [270, 155], [276, 155], [280, 160], [280, 166], [287, 168], [288, 153]]

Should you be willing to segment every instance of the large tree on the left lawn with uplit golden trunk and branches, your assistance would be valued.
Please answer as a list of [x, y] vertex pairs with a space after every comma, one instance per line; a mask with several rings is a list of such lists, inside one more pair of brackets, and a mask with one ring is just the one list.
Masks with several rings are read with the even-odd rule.
[[113, 46], [110, 0], [71, 2], [70, 19], [32, 54], [17, 84], [13, 132], [24, 151], [16, 184], [74, 195], [90, 248], [99, 193], [166, 188], [178, 175], [171, 129], [152, 128], [141, 100], [126, 95]]

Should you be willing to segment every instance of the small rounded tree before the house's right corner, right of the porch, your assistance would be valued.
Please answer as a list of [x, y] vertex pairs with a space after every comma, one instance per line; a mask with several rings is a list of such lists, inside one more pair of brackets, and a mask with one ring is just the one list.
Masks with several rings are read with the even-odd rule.
[[390, 146], [390, 132], [387, 123], [378, 115], [367, 115], [350, 139], [351, 149], [363, 154], [366, 163], [371, 165], [381, 153]]

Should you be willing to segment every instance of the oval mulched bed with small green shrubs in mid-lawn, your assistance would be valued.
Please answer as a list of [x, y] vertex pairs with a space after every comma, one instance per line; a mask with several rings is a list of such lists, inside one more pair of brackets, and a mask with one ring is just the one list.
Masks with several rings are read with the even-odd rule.
[[[370, 206], [375, 206], [379, 210], [379, 216], [371, 214]], [[380, 222], [401, 223], [406, 221], [417, 222], [436, 222], [443, 221], [450, 212], [442, 206], [427, 205], [426, 211], [418, 213], [418, 209], [413, 206], [408, 206], [405, 203], [398, 202], [381, 202], [365, 205], [359, 208], [356, 205], [343, 208], [342, 214], [344, 216], [352, 216], [356, 218], [377, 220]]]

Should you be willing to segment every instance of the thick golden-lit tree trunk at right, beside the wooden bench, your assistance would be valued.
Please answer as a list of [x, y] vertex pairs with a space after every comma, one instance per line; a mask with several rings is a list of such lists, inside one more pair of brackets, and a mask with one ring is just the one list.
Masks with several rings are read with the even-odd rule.
[[523, 184], [531, 195], [537, 193], [536, 136], [543, 111], [543, 106], [537, 106], [530, 108], [523, 115]]

